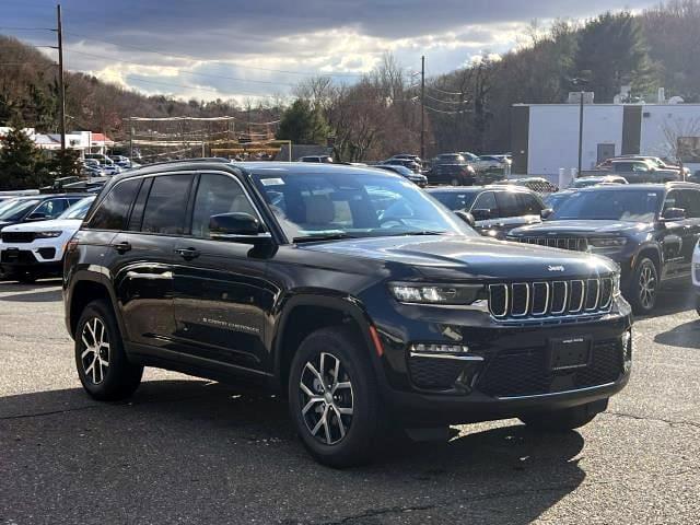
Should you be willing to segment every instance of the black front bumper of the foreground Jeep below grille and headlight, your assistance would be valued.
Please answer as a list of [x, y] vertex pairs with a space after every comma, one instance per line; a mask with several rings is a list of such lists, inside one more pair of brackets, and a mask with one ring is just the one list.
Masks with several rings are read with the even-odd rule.
[[[397, 313], [402, 325], [376, 324], [384, 347], [380, 382], [392, 415], [407, 424], [466, 423], [585, 405], [616, 394], [630, 376], [632, 322], [621, 298], [609, 314], [561, 324], [503, 326], [488, 315], [408, 305]], [[401, 326], [401, 332], [389, 326]], [[580, 337], [590, 341], [588, 363], [552, 370], [552, 341]], [[410, 347], [418, 341], [467, 346], [472, 360], [417, 357]]]

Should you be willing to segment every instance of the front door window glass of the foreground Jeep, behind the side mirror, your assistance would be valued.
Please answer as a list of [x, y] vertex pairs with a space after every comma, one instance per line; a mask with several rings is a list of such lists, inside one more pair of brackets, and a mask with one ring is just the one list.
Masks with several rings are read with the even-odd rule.
[[197, 187], [192, 213], [192, 235], [209, 237], [209, 219], [221, 213], [257, 213], [241, 185], [226, 175], [203, 174]]

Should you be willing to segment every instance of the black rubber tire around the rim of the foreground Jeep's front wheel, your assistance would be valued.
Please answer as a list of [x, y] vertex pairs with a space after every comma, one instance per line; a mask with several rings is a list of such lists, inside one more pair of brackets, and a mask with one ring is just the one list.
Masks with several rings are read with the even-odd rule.
[[[353, 415], [346, 436], [337, 444], [326, 445], [314, 438], [301, 413], [299, 383], [307, 361], [320, 352], [340, 359], [352, 383]], [[370, 459], [381, 428], [376, 378], [369, 363], [368, 350], [354, 342], [342, 327], [325, 328], [310, 335], [292, 360], [289, 378], [290, 416], [304, 446], [319, 462], [331, 467], [360, 465]]]

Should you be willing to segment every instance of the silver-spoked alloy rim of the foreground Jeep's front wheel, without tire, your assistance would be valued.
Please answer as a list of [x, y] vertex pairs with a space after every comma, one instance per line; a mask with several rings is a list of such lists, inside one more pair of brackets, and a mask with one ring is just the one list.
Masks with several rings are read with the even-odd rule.
[[320, 443], [339, 443], [352, 424], [352, 383], [336, 355], [322, 352], [307, 361], [299, 383], [302, 418]]

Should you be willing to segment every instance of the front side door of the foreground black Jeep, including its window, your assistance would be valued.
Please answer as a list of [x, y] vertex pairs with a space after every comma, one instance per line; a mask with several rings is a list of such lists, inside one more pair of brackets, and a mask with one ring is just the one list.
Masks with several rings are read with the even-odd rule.
[[242, 182], [228, 172], [201, 173], [191, 208], [189, 235], [175, 245], [178, 347], [207, 361], [266, 370], [261, 302], [275, 293], [266, 283], [266, 258], [252, 244], [209, 231], [212, 215], [244, 212], [261, 221], [260, 214]]

